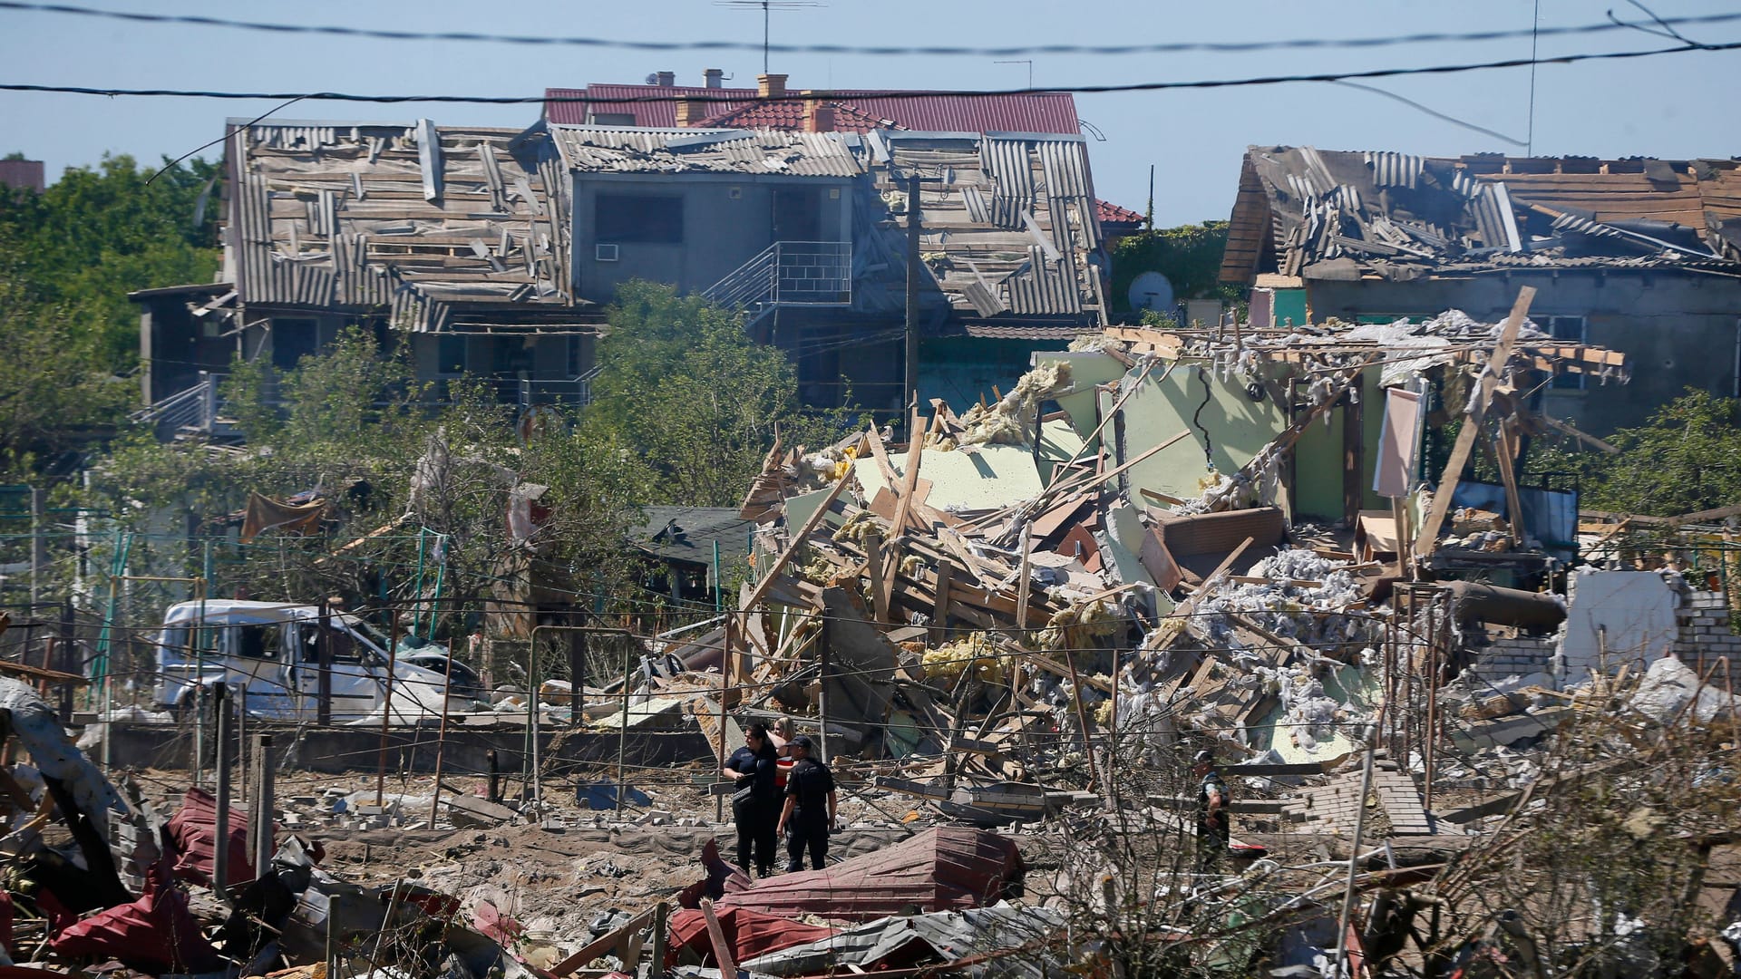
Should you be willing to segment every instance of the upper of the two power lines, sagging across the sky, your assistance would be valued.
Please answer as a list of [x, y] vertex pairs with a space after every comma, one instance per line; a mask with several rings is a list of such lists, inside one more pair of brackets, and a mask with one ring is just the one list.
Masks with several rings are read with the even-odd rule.
[[[1565, 28], [1537, 30], [1492, 30], [1468, 33], [1414, 33], [1367, 38], [1287, 38], [1287, 40], [1250, 40], [1250, 42], [1165, 42], [1165, 44], [1043, 44], [1015, 47], [956, 47], [956, 45], [851, 45], [851, 44], [750, 44], [736, 40], [620, 40], [595, 37], [540, 37], [540, 35], [491, 35], [479, 31], [397, 31], [378, 28], [345, 28], [331, 24], [275, 24], [263, 21], [232, 21], [225, 17], [200, 17], [192, 14], [146, 14], [134, 10], [103, 10], [96, 7], [75, 7], [70, 3], [23, 3], [0, 0], [3, 10], [30, 10], [40, 14], [77, 14], [85, 17], [106, 17], [117, 21], [157, 23], [157, 24], [193, 24], [204, 28], [233, 28], [268, 33], [315, 33], [333, 37], [360, 37], [373, 40], [451, 40], [451, 42], [487, 42], [487, 44], [531, 44], [543, 47], [601, 47], [625, 51], [747, 51], [778, 54], [865, 54], [865, 56], [900, 56], [900, 54], [942, 54], [975, 57], [1010, 57], [1018, 54], [1182, 54], [1182, 52], [1250, 52], [1250, 51], [1314, 51], [1314, 49], [1370, 49], [1405, 44], [1445, 44], [1445, 42], [1492, 42], [1518, 37], [1556, 37], [1556, 35], [1595, 35], [1616, 30], [1637, 30], [1635, 24], [1621, 21], [1603, 21], [1600, 24], [1577, 24]], [[1722, 24], [1741, 21], [1741, 14], [1704, 14], [1697, 17], [1657, 19], [1670, 24]]]

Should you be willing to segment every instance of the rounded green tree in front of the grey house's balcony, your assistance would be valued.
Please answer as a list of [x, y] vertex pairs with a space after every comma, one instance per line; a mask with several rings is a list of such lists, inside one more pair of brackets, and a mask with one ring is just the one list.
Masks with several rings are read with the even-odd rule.
[[815, 446], [848, 423], [804, 416], [785, 354], [752, 341], [736, 314], [669, 286], [618, 289], [599, 362], [583, 430], [646, 460], [658, 503], [735, 505], [775, 430], [787, 446]]

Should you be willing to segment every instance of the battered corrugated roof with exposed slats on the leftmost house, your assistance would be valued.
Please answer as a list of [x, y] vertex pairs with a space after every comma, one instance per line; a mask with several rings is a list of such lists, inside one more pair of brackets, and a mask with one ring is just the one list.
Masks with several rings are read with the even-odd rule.
[[[430, 131], [440, 152], [421, 157], [406, 124], [235, 131], [228, 237], [240, 300], [387, 314], [414, 331], [440, 329], [460, 303], [569, 307], [554, 153], [510, 153], [514, 129]], [[440, 172], [427, 181], [432, 160]]]

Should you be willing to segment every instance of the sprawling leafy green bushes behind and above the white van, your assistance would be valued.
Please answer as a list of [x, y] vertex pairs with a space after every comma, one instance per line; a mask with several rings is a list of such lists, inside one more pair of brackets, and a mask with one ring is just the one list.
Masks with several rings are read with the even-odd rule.
[[[409, 599], [420, 585], [434, 589], [439, 568], [442, 598], [477, 608], [531, 563], [545, 589], [632, 589], [623, 535], [639, 519], [649, 474], [613, 434], [583, 437], [557, 413], [522, 444], [512, 411], [482, 385], [454, 385], [430, 411], [409, 366], [362, 331], [279, 378], [247, 364], [232, 376], [240, 380], [226, 388], [226, 409], [249, 435], [245, 451], [134, 434], [97, 467], [91, 503], [139, 535], [141, 566], [197, 573], [198, 545], [216, 540], [221, 592], [265, 599], [343, 594], [374, 604], [381, 591]], [[514, 540], [505, 521], [508, 493], [522, 483], [548, 486], [540, 505], [550, 517], [531, 542]], [[287, 496], [315, 486], [338, 505], [322, 533], [226, 538], [226, 516], [251, 491]], [[185, 531], [164, 528], [193, 528], [193, 547]], [[590, 598], [575, 603], [592, 606]]]

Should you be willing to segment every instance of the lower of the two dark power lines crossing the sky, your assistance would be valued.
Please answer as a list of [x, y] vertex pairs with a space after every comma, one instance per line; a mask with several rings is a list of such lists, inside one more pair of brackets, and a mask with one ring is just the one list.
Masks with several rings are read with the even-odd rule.
[[[3, 0], [0, 0], [3, 5]], [[1706, 51], [1736, 51], [1741, 42], [1704, 44], [1699, 47], [1675, 45], [1650, 51], [1610, 51], [1588, 54], [1562, 54], [1556, 57], [1508, 57], [1502, 61], [1476, 61], [1464, 64], [1428, 64], [1421, 68], [1374, 68], [1368, 71], [1327, 71], [1320, 75], [1262, 75], [1255, 78], [1200, 78], [1193, 82], [1128, 82], [1119, 85], [1065, 85], [1050, 89], [905, 89], [905, 91], [862, 91], [860, 98], [877, 99], [928, 99], [937, 96], [952, 98], [999, 98], [999, 96], [1039, 96], [1039, 94], [1109, 94], [1109, 92], [1165, 92], [1179, 89], [1241, 89], [1254, 85], [1287, 85], [1295, 82], [1344, 82], [1351, 78], [1396, 78], [1407, 75], [1457, 75], [1464, 71], [1490, 71], [1496, 68], [1527, 68], [1532, 64], [1572, 64], [1579, 61], [1619, 61], [1633, 57], [1654, 57], [1657, 54], [1689, 54]], [[205, 89], [96, 89], [91, 85], [33, 85], [3, 82], [0, 91], [7, 92], [57, 92], [75, 96], [132, 96], [132, 98], [202, 98], [202, 99], [308, 99], [339, 103], [447, 103], [447, 105], [545, 105], [545, 103], [592, 103], [592, 105], [634, 105], [634, 103], [674, 103], [679, 99], [700, 103], [743, 101], [733, 94], [646, 94], [646, 96], [362, 96], [355, 92], [226, 92]]]

